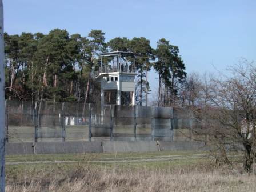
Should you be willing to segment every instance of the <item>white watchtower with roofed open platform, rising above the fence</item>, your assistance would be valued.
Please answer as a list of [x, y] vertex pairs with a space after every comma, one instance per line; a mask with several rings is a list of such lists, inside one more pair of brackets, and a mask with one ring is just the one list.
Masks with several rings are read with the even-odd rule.
[[135, 105], [135, 53], [114, 51], [101, 54], [101, 106]]

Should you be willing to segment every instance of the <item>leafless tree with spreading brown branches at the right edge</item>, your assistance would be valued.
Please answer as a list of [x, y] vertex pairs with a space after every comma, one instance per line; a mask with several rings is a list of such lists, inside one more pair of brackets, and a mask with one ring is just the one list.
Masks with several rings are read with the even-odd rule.
[[202, 129], [194, 131], [225, 163], [231, 163], [226, 153], [230, 147], [241, 151], [243, 167], [250, 172], [256, 155], [256, 66], [241, 59], [227, 73], [202, 86], [205, 102], [193, 108]]

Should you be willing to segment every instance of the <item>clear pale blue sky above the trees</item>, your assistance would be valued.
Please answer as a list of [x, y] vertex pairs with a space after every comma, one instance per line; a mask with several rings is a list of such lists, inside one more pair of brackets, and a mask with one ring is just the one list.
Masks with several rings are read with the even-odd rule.
[[[86, 36], [101, 29], [114, 37], [164, 37], [178, 45], [187, 73], [223, 70], [256, 58], [255, 0], [3, 0], [5, 31], [48, 33], [66, 29]], [[151, 72], [150, 85], [157, 88]]]

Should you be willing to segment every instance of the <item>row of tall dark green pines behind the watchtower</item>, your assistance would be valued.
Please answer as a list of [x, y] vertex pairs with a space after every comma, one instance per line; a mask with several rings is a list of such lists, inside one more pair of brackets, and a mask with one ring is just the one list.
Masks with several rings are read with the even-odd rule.
[[[5, 33], [5, 93], [9, 100], [40, 102], [99, 101], [100, 85], [95, 81], [99, 54], [106, 51], [137, 53], [137, 104], [148, 103], [149, 71], [159, 75], [158, 106], [170, 106], [178, 97], [178, 85], [185, 81], [185, 65], [178, 46], [165, 38], [157, 48], [145, 37], [116, 37], [106, 42], [102, 30], [87, 37], [54, 29], [49, 34]], [[164, 90], [164, 91], [162, 91]]]

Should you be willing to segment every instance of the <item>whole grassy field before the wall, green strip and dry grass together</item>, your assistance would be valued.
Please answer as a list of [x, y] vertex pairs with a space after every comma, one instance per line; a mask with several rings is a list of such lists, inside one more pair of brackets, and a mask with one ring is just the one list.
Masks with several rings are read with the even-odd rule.
[[255, 191], [255, 175], [234, 167], [194, 151], [12, 155], [6, 191]]

